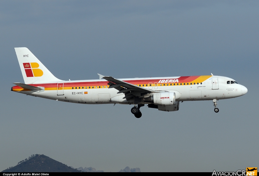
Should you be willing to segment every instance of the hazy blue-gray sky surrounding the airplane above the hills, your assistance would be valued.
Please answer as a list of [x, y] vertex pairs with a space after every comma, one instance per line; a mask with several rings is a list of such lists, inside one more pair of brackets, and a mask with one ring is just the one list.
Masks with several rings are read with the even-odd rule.
[[[117, 172], [258, 167], [258, 1], [1, 1], [0, 170], [32, 154]], [[214, 75], [242, 97], [179, 111], [78, 105], [11, 92], [24, 82], [14, 47], [57, 78]]]

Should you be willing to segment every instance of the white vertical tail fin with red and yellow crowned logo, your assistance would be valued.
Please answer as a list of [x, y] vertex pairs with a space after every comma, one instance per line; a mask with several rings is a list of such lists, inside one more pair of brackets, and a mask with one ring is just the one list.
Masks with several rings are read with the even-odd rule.
[[57, 82], [57, 79], [28, 48], [15, 48], [25, 84]]

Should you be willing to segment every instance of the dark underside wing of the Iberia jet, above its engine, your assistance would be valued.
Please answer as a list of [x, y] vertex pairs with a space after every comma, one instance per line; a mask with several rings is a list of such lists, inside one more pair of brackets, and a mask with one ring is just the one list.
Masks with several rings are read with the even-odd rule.
[[100, 76], [100, 79], [104, 78], [105, 80], [109, 81], [108, 83], [109, 88], [117, 89], [119, 91], [117, 93], [124, 93], [125, 97], [123, 98], [126, 100], [129, 100], [132, 97], [141, 97], [152, 92], [159, 92], [159, 91], [146, 89], [144, 87], [139, 87], [134, 84], [127, 83], [125, 81], [121, 81], [119, 79], [113, 78], [111, 76], [103, 76], [100, 74], [98, 75]]

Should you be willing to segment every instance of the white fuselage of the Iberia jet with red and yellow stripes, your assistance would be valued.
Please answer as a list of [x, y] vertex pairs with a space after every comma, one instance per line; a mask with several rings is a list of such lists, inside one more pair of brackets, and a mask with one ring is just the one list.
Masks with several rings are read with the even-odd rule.
[[[213, 99], [229, 99], [239, 97], [247, 92], [247, 88], [241, 84], [232, 83], [233, 79], [224, 76], [207, 76], [208, 78], [201, 82], [178, 81], [173, 82], [180, 77], [157, 77], [157, 78], [129, 78], [120, 79], [125, 82], [132, 82], [134, 85], [140, 85], [154, 91], [177, 91], [179, 95], [176, 101], [197, 101]], [[144, 81], [143, 81], [144, 80]], [[161, 81], [164, 80], [164, 81]], [[140, 83], [142, 81], [142, 83]], [[217, 82], [216, 82], [217, 81]], [[229, 81], [229, 84], [227, 83]], [[159, 83], [160, 82], [160, 83]], [[129, 101], [121, 100], [124, 93], [117, 94], [118, 90], [109, 88], [104, 79], [80, 80], [80, 81], [62, 81], [52, 83], [30, 84], [37, 87], [44, 87], [40, 91], [29, 91], [21, 89], [19, 86], [12, 87], [13, 91], [32, 95], [35, 97], [47, 98], [58, 101], [85, 103], [85, 104], [107, 104], [120, 103], [132, 104]], [[188, 85], [187, 85], [188, 83]], [[192, 84], [191, 84], [192, 83]], [[195, 83], [195, 84], [194, 84]], [[198, 84], [197, 84], [198, 83]], [[175, 85], [174, 85], [175, 84]], [[177, 85], [178, 84], [178, 85]], [[182, 84], [182, 85], [180, 85]], [[185, 85], [184, 85], [185, 84]], [[117, 102], [111, 101], [112, 98], [120, 96]], [[138, 104], [145, 104], [140, 102]]]

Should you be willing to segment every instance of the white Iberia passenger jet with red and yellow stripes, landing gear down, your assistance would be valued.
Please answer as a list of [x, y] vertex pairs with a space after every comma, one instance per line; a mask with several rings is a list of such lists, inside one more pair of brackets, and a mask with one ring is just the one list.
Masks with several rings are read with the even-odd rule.
[[240, 97], [247, 88], [224, 76], [175, 76], [64, 81], [56, 78], [26, 47], [15, 52], [24, 83], [13, 83], [11, 91], [56, 101], [82, 104], [134, 105], [131, 113], [140, 118], [140, 107], [178, 111], [183, 101], [212, 100], [215, 113], [218, 100]]

